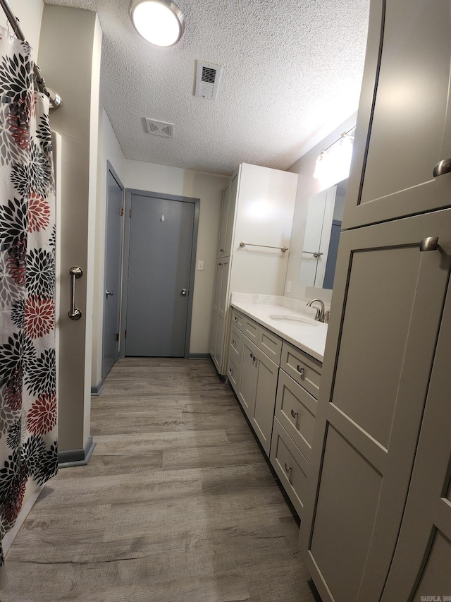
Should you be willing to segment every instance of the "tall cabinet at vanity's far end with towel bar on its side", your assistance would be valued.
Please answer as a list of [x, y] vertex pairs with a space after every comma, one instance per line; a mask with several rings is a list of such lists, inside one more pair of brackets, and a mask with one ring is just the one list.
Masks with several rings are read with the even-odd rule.
[[[223, 191], [209, 351], [226, 374], [230, 294], [283, 295], [297, 174], [240, 164]], [[240, 246], [240, 243], [246, 246]]]

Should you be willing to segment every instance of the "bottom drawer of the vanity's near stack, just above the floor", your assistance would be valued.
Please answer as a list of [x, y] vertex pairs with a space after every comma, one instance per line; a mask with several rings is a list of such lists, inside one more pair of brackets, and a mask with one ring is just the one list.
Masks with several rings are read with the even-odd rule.
[[302, 519], [309, 463], [277, 418], [274, 419], [270, 460], [280, 478], [280, 483], [288, 493], [299, 518]]

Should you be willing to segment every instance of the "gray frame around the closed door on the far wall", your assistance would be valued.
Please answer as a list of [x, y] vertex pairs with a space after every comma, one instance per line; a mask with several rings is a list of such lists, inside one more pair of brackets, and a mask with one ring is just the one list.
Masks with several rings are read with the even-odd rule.
[[192, 203], [194, 205], [194, 223], [192, 226], [192, 247], [191, 247], [191, 258], [190, 258], [190, 284], [188, 294], [188, 307], [187, 307], [187, 319], [186, 319], [186, 331], [185, 331], [185, 359], [190, 357], [190, 339], [191, 339], [191, 320], [192, 320], [192, 300], [194, 298], [194, 274], [196, 268], [196, 254], [197, 254], [197, 232], [199, 230], [199, 210], [200, 210], [200, 199], [191, 198], [189, 196], [179, 196], [174, 194], [157, 193], [151, 191], [142, 191], [137, 188], [126, 188], [125, 189], [125, 229], [123, 239], [123, 268], [122, 268], [122, 296], [121, 296], [121, 330], [119, 334], [119, 358], [125, 357], [125, 325], [127, 317], [127, 306], [128, 306], [128, 266], [130, 260], [130, 211], [132, 206], [132, 195], [140, 195], [149, 198], [162, 198], [164, 200], [177, 200], [182, 203]]

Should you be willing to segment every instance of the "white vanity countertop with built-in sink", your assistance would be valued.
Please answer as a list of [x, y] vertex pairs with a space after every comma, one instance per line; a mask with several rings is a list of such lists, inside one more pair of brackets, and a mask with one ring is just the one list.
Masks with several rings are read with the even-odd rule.
[[[327, 325], [311, 320], [311, 323], [295, 320], [270, 318], [271, 315], [292, 315], [306, 317], [307, 312], [294, 311], [283, 305], [274, 303], [246, 303], [232, 298], [232, 307], [242, 311], [249, 318], [268, 328], [285, 341], [299, 347], [310, 356], [323, 361], [326, 347]], [[307, 308], [307, 311], [309, 308]], [[310, 314], [311, 315], [311, 314]], [[308, 319], [308, 318], [307, 318]]]

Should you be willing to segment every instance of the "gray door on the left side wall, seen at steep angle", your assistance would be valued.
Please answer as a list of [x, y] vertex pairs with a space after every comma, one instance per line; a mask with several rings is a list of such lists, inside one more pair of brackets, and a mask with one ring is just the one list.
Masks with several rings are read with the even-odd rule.
[[121, 310], [121, 263], [123, 239], [123, 186], [108, 164], [106, 193], [106, 248], [104, 291], [104, 334], [101, 378], [105, 378], [119, 356]]

